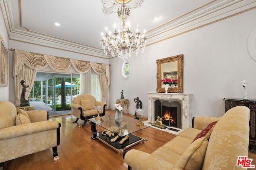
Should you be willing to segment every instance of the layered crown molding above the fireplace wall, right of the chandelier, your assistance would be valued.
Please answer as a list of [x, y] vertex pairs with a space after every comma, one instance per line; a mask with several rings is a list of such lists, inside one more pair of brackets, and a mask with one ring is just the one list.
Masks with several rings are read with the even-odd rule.
[[181, 35], [200, 27], [255, 9], [255, 0], [225, 0], [200, 10], [195, 14], [178, 18], [162, 25], [160, 29], [146, 33], [148, 45]]

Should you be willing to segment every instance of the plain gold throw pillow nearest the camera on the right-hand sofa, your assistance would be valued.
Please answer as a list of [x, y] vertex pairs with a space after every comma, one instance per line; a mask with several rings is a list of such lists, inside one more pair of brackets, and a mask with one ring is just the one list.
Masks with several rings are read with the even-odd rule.
[[201, 137], [191, 143], [180, 156], [177, 164], [182, 170], [200, 170], [204, 162], [208, 141]]

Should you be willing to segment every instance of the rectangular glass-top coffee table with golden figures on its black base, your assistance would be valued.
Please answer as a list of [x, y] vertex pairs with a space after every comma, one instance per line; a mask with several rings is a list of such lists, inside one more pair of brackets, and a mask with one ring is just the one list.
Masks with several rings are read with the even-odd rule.
[[[100, 120], [92, 118], [91, 121], [91, 130], [92, 130], [92, 139], [99, 139], [112, 149], [116, 150], [118, 154], [122, 154], [124, 150], [138, 144], [144, 143], [148, 139], [143, 139], [132, 133], [140, 131], [147, 127], [148, 125], [140, 125], [137, 122], [138, 119], [131, 117], [123, 116], [122, 121], [115, 121], [115, 115], [105, 115]], [[96, 125], [103, 127], [104, 130], [97, 132]], [[114, 140], [114, 141], [113, 141]]]

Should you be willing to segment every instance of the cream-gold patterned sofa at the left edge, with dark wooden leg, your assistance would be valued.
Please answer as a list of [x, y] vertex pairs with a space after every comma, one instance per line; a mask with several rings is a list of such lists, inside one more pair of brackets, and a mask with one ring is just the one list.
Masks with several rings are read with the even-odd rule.
[[47, 119], [46, 110], [23, 111], [11, 102], [0, 101], [0, 165], [49, 148], [57, 161], [60, 123]]

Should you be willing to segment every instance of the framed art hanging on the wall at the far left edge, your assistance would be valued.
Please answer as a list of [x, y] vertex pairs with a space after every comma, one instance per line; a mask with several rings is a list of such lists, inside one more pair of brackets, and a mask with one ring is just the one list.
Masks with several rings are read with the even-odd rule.
[[8, 51], [1, 35], [0, 39], [0, 86], [8, 86]]

